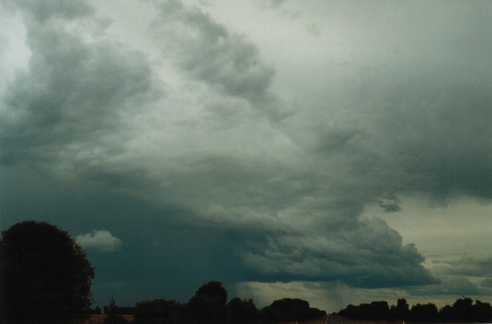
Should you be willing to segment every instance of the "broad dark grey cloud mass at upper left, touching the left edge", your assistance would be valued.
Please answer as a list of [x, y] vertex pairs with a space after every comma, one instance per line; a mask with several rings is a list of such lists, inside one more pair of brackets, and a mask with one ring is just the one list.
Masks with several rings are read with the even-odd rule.
[[[27, 5], [34, 15], [71, 8], [39, 1]], [[27, 37], [29, 69], [17, 73], [3, 98], [1, 161], [115, 153], [124, 141], [114, 141], [116, 129], [158, 96], [145, 57], [118, 44], [89, 43], [44, 19], [28, 23]]]

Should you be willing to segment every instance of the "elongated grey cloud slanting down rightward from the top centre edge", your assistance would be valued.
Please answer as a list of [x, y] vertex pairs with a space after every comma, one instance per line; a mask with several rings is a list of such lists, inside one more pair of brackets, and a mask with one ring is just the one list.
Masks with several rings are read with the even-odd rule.
[[180, 69], [225, 95], [246, 99], [270, 120], [289, 114], [269, 91], [274, 69], [263, 63], [254, 44], [198, 8], [164, 1], [159, 9], [161, 15], [153, 23], [155, 37], [163, 42], [166, 52], [174, 53]]

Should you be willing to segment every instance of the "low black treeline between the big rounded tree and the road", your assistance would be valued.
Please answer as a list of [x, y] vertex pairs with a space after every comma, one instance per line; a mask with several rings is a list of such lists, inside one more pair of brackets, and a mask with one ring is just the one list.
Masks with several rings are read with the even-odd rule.
[[[326, 312], [310, 307], [298, 298], [283, 298], [257, 309], [252, 299], [232, 298], [227, 303], [227, 290], [218, 281], [200, 287], [188, 303], [155, 299], [140, 301], [135, 307], [118, 307], [111, 298], [104, 306], [104, 323], [129, 323], [123, 314], [133, 315], [135, 324], [155, 323], [280, 323], [308, 321], [326, 316]], [[101, 312], [101, 309], [97, 307]], [[94, 311], [97, 313], [97, 310]]]

